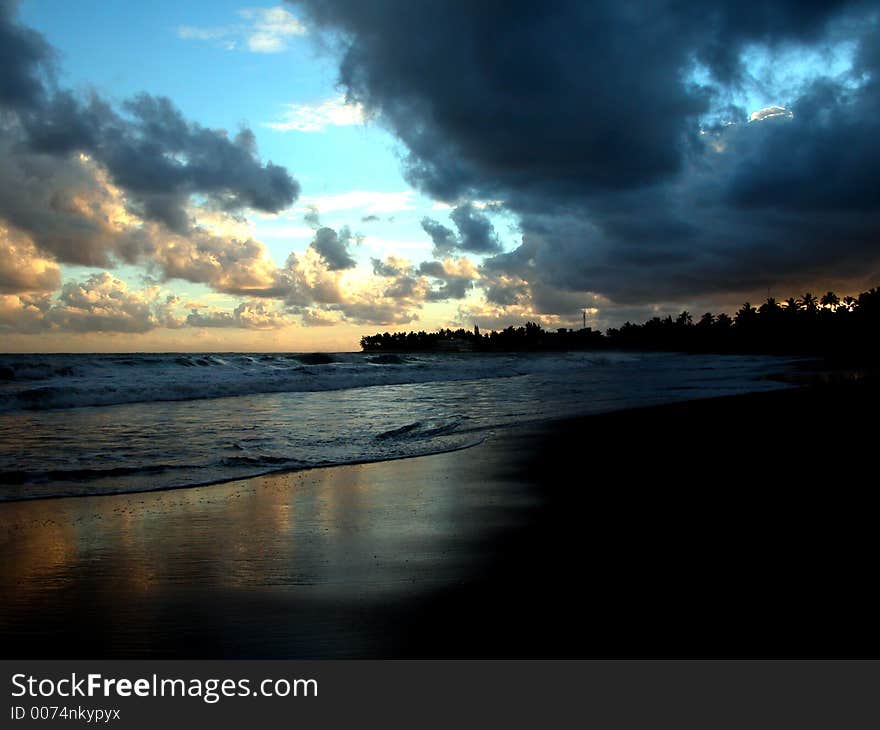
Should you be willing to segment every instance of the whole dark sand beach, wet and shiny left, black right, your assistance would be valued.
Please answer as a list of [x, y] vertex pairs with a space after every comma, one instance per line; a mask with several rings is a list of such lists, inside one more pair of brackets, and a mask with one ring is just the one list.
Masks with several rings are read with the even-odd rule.
[[0, 504], [3, 654], [877, 656], [877, 402], [836, 383]]

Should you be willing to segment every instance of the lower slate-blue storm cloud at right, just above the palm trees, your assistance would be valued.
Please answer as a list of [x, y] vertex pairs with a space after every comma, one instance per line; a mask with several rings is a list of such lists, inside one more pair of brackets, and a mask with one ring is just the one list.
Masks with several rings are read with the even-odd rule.
[[[723, 152], [665, 186], [616, 192], [578, 214], [523, 218], [495, 271], [617, 302], [777, 295], [880, 276], [878, 89], [805, 89], [793, 117], [729, 127]], [[852, 284], [850, 284], [852, 285]]]

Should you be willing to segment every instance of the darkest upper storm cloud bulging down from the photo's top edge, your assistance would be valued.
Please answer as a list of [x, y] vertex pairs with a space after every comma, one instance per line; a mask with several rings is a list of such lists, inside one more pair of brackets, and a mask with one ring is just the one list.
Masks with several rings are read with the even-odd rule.
[[794, 2], [297, 4], [346, 33], [340, 80], [407, 144], [411, 178], [444, 199], [581, 194], [677, 171], [708, 108], [682, 83], [694, 56], [727, 79], [740, 44], [809, 35], [829, 15]]

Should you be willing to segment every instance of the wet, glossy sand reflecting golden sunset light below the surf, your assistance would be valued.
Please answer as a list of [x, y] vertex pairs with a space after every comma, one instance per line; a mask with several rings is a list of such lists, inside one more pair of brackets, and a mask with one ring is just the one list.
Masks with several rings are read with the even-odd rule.
[[479, 569], [485, 518], [503, 500], [460, 478], [461, 462], [443, 454], [0, 504], [0, 627], [68, 638], [85, 627], [125, 654], [176, 654], [193, 632], [233, 635], [249, 655], [308, 655], [316, 641], [322, 655], [328, 642], [357, 653], [381, 630], [373, 607]]

